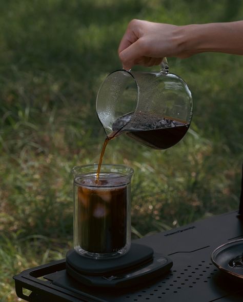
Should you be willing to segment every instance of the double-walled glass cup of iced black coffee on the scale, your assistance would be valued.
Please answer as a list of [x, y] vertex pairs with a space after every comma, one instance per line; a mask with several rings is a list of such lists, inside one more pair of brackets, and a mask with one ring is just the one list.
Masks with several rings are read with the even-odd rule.
[[80, 255], [108, 259], [131, 245], [131, 178], [125, 165], [77, 166], [74, 176], [74, 249]]

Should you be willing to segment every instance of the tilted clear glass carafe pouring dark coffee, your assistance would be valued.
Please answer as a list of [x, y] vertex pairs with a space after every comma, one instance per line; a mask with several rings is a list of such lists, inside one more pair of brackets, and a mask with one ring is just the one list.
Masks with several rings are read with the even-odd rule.
[[145, 146], [167, 149], [190, 126], [192, 96], [184, 80], [169, 73], [164, 58], [159, 72], [109, 74], [99, 88], [96, 111], [108, 137], [125, 133]]

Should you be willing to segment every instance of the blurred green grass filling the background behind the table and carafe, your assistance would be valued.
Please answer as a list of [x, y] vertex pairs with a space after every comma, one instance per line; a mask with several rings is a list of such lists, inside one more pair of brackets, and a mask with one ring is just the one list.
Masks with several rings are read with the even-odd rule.
[[[98, 161], [105, 134], [95, 97], [120, 68], [117, 47], [128, 22], [230, 22], [242, 14], [240, 0], [0, 2], [1, 301], [19, 300], [14, 274], [72, 246], [70, 170]], [[155, 151], [121, 136], [104, 157], [135, 170], [134, 238], [238, 207], [243, 57], [204, 53], [169, 58], [169, 65], [193, 95], [186, 137]]]

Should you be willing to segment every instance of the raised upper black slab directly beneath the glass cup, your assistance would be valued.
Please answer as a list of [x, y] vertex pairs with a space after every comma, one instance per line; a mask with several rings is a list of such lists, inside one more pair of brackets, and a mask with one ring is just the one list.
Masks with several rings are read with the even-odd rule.
[[70, 267], [78, 273], [102, 275], [132, 268], [145, 263], [153, 257], [153, 249], [140, 244], [131, 244], [130, 250], [123, 256], [114, 259], [90, 259], [79, 255], [74, 249], [67, 252], [67, 272]]

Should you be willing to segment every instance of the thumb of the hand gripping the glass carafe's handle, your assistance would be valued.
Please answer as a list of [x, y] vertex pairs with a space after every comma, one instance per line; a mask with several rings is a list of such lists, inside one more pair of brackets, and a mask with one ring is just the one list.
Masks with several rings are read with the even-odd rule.
[[143, 49], [139, 39], [119, 53], [120, 61], [122, 61], [123, 68], [126, 70], [131, 69], [136, 59], [141, 56], [143, 56]]

